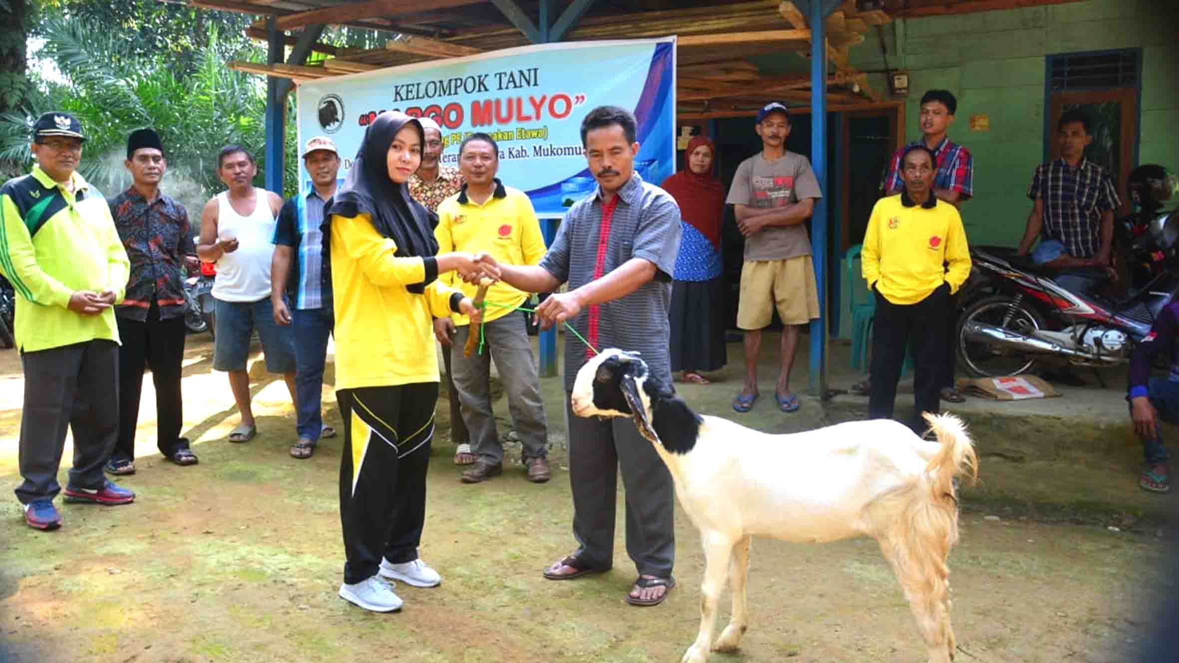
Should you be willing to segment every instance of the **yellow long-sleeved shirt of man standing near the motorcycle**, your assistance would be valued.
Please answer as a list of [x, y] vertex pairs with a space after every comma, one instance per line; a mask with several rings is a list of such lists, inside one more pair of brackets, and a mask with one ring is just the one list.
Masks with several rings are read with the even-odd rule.
[[970, 275], [970, 248], [957, 208], [936, 198], [930, 208], [905, 202], [907, 196], [889, 196], [872, 208], [861, 249], [868, 288], [875, 285], [894, 304], [915, 304], [942, 283], [956, 293]]

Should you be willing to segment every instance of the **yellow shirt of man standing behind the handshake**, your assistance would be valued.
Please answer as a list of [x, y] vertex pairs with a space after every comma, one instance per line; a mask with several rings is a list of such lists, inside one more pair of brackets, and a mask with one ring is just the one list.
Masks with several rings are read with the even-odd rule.
[[[467, 251], [489, 254], [496, 262], [505, 264], [538, 264], [545, 257], [545, 237], [540, 232], [540, 221], [528, 196], [511, 186], [496, 183], [495, 192], [482, 204], [467, 198], [463, 189], [439, 204], [439, 225], [434, 236], [439, 241], [439, 252]], [[476, 287], [459, 278], [454, 273], [440, 277], [454, 288], [460, 288], [468, 297], [474, 298]], [[498, 281], [487, 289], [487, 301], [518, 307], [528, 295]], [[487, 307], [483, 322], [512, 313], [511, 308]], [[450, 316], [457, 326], [470, 324], [462, 314]]]

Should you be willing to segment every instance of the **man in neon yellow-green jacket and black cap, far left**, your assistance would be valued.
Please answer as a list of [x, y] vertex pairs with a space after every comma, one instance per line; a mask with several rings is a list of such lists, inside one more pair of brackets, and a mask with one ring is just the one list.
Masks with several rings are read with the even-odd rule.
[[75, 169], [81, 123], [60, 112], [33, 127], [33, 172], [0, 188], [0, 273], [17, 293], [15, 337], [25, 369], [17, 499], [25, 521], [57, 530], [58, 466], [73, 431], [66, 501], [127, 504], [103, 465], [119, 434], [119, 329], [131, 263], [106, 199]]

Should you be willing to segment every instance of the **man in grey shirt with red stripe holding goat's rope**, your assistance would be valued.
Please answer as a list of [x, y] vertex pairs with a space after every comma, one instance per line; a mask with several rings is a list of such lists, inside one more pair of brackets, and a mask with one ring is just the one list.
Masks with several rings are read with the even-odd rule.
[[[679, 206], [634, 172], [634, 116], [600, 106], [581, 123], [581, 142], [598, 191], [566, 212], [539, 265], [500, 264], [501, 278], [526, 293], [551, 295], [536, 309], [546, 327], [568, 321], [592, 348], [638, 350], [652, 375], [671, 383], [671, 280], [679, 254]], [[481, 260], [493, 263], [483, 256]], [[594, 353], [569, 335], [565, 389]], [[566, 408], [569, 408], [566, 399]], [[580, 544], [545, 571], [551, 580], [606, 571], [614, 559], [618, 471], [626, 487], [626, 552], [639, 577], [626, 600], [656, 605], [676, 586], [674, 488], [651, 442], [628, 419], [584, 419], [568, 411], [573, 536]]]

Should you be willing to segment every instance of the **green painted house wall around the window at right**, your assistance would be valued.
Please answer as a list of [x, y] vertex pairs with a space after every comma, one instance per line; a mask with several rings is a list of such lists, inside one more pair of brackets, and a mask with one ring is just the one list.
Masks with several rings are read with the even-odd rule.
[[[1085, 0], [1013, 11], [895, 21], [883, 26], [889, 66], [910, 73], [907, 139], [916, 138], [921, 94], [944, 87], [959, 99], [950, 138], [975, 158], [975, 199], [963, 208], [970, 242], [1015, 245], [1027, 186], [1043, 158], [1046, 55], [1142, 48], [1139, 163], [1179, 170], [1179, 2]], [[874, 32], [851, 48], [861, 70], [884, 68]], [[887, 91], [883, 74], [872, 85]], [[990, 131], [971, 131], [971, 114]]]

